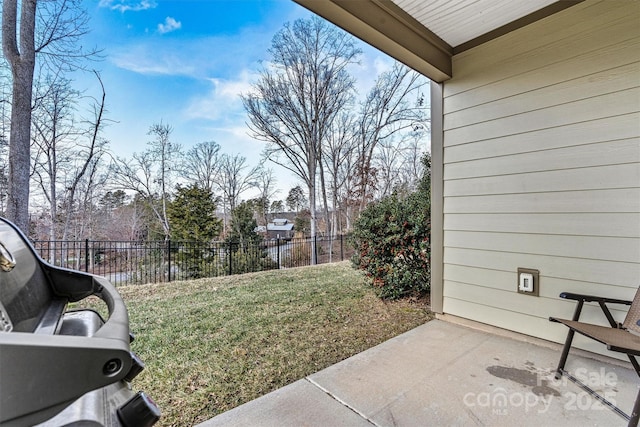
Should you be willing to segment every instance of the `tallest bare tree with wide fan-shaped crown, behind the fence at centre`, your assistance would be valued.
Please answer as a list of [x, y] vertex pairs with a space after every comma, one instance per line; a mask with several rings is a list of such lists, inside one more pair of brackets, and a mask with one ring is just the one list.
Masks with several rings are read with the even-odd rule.
[[[361, 53], [347, 33], [318, 17], [296, 20], [273, 38], [270, 66], [242, 97], [266, 156], [306, 184], [311, 235], [316, 234], [316, 179], [321, 143], [333, 119], [353, 99], [347, 66]], [[311, 251], [315, 254], [312, 248]], [[312, 263], [315, 259], [311, 260]]]

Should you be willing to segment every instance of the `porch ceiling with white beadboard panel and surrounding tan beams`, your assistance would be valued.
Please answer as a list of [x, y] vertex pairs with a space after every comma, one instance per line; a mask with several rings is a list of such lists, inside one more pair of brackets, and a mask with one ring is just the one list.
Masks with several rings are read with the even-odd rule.
[[434, 81], [453, 55], [582, 0], [294, 0]]

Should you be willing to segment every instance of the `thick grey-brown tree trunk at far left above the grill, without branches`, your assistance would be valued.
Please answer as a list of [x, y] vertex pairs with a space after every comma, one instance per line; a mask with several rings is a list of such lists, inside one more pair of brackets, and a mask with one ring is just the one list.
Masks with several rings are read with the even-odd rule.
[[[20, 5], [18, 31], [17, 0], [4, 0], [2, 48], [13, 77], [11, 133], [9, 136], [9, 188], [6, 215], [25, 234], [29, 233], [29, 170], [31, 164], [31, 97], [35, 67], [36, 0]], [[17, 34], [20, 34], [18, 47]]]

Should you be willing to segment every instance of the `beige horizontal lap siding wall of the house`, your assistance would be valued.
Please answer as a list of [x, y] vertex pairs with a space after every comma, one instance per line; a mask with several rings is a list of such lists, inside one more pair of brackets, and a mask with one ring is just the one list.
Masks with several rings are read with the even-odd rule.
[[[560, 292], [633, 297], [638, 22], [639, 2], [586, 1], [454, 57], [443, 88], [445, 313], [561, 341], [566, 328], [548, 317], [570, 318], [574, 303]], [[518, 267], [540, 271], [539, 296], [517, 293]]]

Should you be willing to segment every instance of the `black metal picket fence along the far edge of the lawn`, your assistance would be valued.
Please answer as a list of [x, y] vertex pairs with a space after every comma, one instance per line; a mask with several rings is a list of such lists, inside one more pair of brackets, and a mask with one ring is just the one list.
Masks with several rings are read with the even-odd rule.
[[118, 285], [302, 267], [343, 261], [353, 254], [346, 235], [260, 243], [88, 239], [32, 243], [40, 256], [53, 265], [105, 276]]

